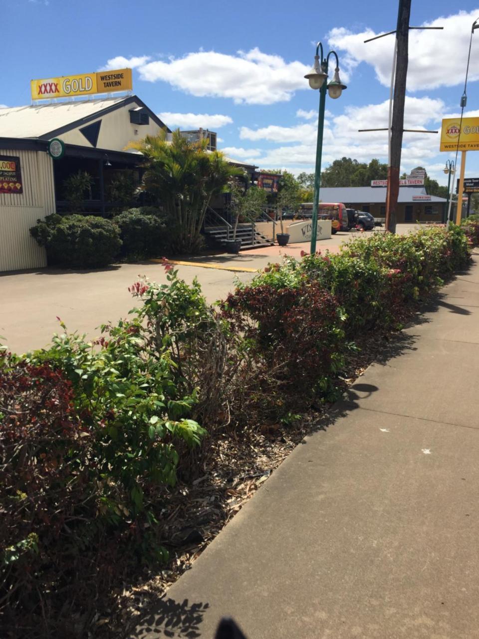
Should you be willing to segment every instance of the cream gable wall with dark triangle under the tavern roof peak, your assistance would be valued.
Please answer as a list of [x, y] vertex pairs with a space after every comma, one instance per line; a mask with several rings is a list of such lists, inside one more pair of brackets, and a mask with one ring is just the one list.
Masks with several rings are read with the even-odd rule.
[[139, 142], [146, 137], [146, 135], [158, 135], [160, 130], [162, 130], [151, 118], [149, 119], [148, 125], [132, 124], [130, 122], [130, 110], [134, 108], [135, 104], [127, 104], [124, 107], [120, 107], [115, 111], [103, 115], [101, 118], [79, 124], [78, 128], [66, 131], [54, 137], [59, 137], [65, 144], [77, 144], [79, 146], [93, 148], [82, 132], [80, 132], [80, 128], [87, 127], [101, 119], [102, 124], [100, 126], [96, 148], [107, 149], [109, 151], [123, 151], [128, 142]]

